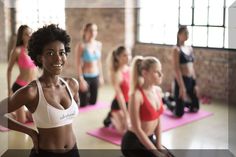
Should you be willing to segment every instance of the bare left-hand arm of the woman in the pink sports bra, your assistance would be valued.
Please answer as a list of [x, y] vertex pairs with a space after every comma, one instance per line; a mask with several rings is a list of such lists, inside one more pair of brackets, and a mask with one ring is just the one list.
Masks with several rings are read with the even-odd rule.
[[11, 72], [12, 72], [12, 68], [13, 68], [14, 64], [17, 62], [17, 58], [19, 56], [19, 53], [20, 53], [20, 49], [15, 48], [11, 51], [11, 55], [10, 55], [10, 58], [9, 58], [8, 67], [7, 67], [8, 96], [10, 96], [11, 93], [12, 93], [12, 91], [11, 91]]

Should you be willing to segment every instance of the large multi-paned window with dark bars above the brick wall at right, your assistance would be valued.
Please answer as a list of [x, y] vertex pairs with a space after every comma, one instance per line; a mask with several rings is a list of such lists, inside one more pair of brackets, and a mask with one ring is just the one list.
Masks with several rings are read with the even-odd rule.
[[[236, 49], [230, 34], [236, 34], [234, 0], [139, 0], [138, 41], [175, 45], [179, 25], [189, 30], [188, 45]], [[228, 39], [229, 38], [229, 39]]]

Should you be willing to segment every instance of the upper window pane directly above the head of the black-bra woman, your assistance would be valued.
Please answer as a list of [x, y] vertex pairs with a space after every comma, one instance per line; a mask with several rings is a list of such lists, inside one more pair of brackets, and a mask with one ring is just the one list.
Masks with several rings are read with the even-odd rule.
[[180, 8], [180, 24], [192, 24], [192, 8]]

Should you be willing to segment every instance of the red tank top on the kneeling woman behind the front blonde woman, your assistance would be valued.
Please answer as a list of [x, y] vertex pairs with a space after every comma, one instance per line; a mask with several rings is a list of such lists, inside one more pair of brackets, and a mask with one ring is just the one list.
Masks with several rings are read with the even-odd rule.
[[130, 74], [129, 70], [127, 70], [122, 72], [122, 81], [120, 83], [120, 88], [125, 98], [125, 102], [129, 101], [129, 86], [130, 86]]

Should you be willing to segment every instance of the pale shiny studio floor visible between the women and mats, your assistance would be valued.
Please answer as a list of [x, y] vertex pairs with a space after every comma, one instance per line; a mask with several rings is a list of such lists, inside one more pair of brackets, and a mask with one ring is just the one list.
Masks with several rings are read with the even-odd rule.
[[[7, 96], [6, 63], [0, 63], [0, 100]], [[17, 69], [14, 69], [16, 77]], [[13, 79], [14, 80], [14, 79]], [[110, 102], [114, 92], [109, 85], [99, 91], [99, 101]], [[202, 105], [205, 111], [214, 115], [191, 124], [187, 124], [162, 134], [162, 143], [170, 149], [228, 149], [228, 106], [223, 102], [213, 101]], [[1, 109], [1, 108], [0, 108]], [[108, 109], [99, 109], [80, 113], [73, 123], [80, 149], [120, 149], [120, 147], [94, 138], [86, 131], [102, 126]], [[7, 149], [30, 149], [31, 139], [15, 131], [0, 132], [0, 155]]]

